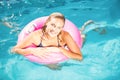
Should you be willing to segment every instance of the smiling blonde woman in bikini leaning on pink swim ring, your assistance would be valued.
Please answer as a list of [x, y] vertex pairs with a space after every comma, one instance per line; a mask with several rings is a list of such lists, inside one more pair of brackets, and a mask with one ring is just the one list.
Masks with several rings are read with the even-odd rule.
[[[12, 51], [22, 55], [33, 53], [41, 58], [47, 57], [49, 52], [59, 51], [71, 59], [82, 60], [79, 47], [71, 35], [63, 30], [64, 24], [65, 17], [61, 13], [52, 13], [42, 29], [30, 33]], [[31, 44], [36, 45], [37, 48], [26, 48]], [[69, 50], [65, 49], [65, 46]]]

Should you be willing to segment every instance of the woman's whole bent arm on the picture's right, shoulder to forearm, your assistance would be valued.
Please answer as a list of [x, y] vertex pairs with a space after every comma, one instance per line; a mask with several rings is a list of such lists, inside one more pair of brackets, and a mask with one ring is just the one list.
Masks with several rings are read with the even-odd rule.
[[60, 47], [60, 51], [69, 58], [82, 60], [82, 53], [79, 47], [77, 46], [76, 42], [73, 40], [71, 35], [67, 32], [64, 33], [64, 41], [66, 42], [69, 50]]

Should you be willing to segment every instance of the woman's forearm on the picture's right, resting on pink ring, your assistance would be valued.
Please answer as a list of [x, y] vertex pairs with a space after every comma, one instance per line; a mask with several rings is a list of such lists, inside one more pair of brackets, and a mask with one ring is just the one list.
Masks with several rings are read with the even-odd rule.
[[82, 60], [82, 55], [78, 53], [73, 53], [69, 50], [66, 50], [64, 48], [60, 48], [60, 51], [67, 57], [75, 60]]

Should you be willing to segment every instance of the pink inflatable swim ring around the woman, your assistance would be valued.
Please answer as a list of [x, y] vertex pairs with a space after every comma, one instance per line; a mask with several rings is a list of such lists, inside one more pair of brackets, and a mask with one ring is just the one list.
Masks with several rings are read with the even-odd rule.
[[[31, 32], [41, 29], [46, 21], [46, 17], [40, 17], [33, 21], [31, 21], [29, 24], [27, 24], [24, 29], [20, 32], [18, 37], [18, 43], [20, 43], [26, 36], [28, 36]], [[78, 28], [68, 19], [65, 21], [64, 29], [65, 31], [69, 32], [72, 38], [75, 40], [79, 48], [82, 47], [82, 38], [80, 35], [80, 32]], [[30, 45], [29, 47], [36, 47], [35, 45]], [[25, 55], [26, 58], [28, 58], [32, 62], [40, 63], [40, 64], [55, 64], [59, 63], [65, 60], [68, 60], [68, 57], [66, 57], [61, 52], [54, 52], [50, 53], [50, 56], [46, 59], [41, 59], [37, 56], [34, 56], [31, 54]]]

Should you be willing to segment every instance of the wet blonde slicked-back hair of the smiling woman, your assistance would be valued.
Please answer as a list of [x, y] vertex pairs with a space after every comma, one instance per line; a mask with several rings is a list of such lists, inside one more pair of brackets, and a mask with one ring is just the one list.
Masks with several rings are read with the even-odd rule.
[[52, 13], [52, 14], [48, 17], [48, 19], [46, 20], [46, 22], [45, 22], [45, 24], [44, 24], [44, 26], [43, 26], [43, 28], [42, 28], [42, 31], [43, 31], [43, 32], [45, 32], [45, 30], [46, 30], [46, 27], [47, 27], [46, 24], [47, 24], [52, 18], [59, 18], [59, 19], [63, 20], [63, 22], [65, 23], [65, 17], [64, 17], [64, 15], [61, 14], [61, 13], [59, 13], [59, 12], [54, 12], [54, 13]]

